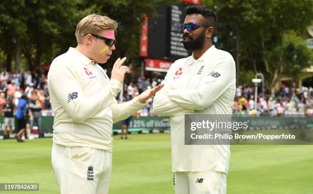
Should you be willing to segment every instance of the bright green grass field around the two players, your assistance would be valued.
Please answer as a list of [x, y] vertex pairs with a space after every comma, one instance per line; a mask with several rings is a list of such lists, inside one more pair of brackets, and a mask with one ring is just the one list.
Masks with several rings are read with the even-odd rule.
[[[169, 134], [114, 137], [110, 194], [174, 193]], [[51, 166], [52, 138], [0, 141], [0, 183], [39, 183], [59, 193]], [[232, 145], [228, 194], [313, 193], [313, 145]]]

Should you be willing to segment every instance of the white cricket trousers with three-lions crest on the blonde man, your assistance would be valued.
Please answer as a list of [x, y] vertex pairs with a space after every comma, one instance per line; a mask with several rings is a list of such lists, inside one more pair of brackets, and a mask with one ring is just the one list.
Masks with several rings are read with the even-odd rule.
[[90, 147], [52, 146], [52, 167], [61, 194], [106, 194], [112, 153]]

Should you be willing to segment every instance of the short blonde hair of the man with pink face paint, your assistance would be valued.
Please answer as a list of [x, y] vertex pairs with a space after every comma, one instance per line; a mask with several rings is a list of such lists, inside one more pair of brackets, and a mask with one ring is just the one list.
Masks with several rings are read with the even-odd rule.
[[79, 21], [75, 36], [77, 41], [87, 34], [97, 34], [102, 30], [116, 30], [118, 24], [115, 20], [102, 15], [91, 14]]

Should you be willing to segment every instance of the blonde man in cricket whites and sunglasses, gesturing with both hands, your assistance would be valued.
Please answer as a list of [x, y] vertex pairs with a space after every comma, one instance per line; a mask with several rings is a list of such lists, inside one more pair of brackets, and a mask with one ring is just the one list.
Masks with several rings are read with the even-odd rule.
[[117, 59], [108, 78], [97, 64], [115, 50], [116, 21], [88, 15], [77, 25], [78, 45], [55, 58], [48, 73], [53, 109], [52, 166], [61, 193], [107, 193], [114, 122], [142, 109], [162, 85], [126, 103], [115, 96], [129, 68]]

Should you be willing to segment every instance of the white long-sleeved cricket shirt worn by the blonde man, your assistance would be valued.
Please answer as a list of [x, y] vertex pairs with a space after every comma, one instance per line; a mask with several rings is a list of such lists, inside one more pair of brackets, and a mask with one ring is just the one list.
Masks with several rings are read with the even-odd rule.
[[121, 82], [109, 80], [98, 64], [75, 48], [55, 58], [48, 73], [53, 142], [111, 152], [113, 123], [146, 104], [137, 98], [118, 104], [115, 96], [121, 87]]

